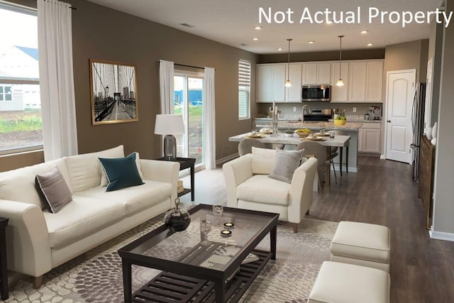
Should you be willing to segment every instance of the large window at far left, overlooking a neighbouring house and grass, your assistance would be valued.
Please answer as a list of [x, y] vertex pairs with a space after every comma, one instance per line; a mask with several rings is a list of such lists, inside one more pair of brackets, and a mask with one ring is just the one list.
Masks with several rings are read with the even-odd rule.
[[43, 148], [37, 13], [0, 2], [0, 28], [0, 154]]

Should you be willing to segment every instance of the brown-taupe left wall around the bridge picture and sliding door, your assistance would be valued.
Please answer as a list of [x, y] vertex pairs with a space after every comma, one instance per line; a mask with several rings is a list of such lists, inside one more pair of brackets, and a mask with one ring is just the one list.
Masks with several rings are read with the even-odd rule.
[[[13, 2], [36, 7], [36, 1]], [[123, 144], [125, 153], [138, 151], [141, 158], [160, 157], [161, 138], [154, 134], [155, 116], [160, 114], [157, 63], [160, 59], [216, 69], [216, 159], [237, 153], [238, 143], [228, 142], [228, 137], [250, 131], [252, 126], [250, 119], [238, 121], [238, 60], [249, 60], [252, 65], [250, 99], [251, 114], [255, 114], [255, 64], [258, 55], [89, 1], [67, 2], [77, 8], [77, 11], [72, 11], [72, 46], [79, 153]], [[137, 122], [92, 126], [89, 59], [136, 65]], [[37, 159], [42, 157], [34, 156], [33, 160], [25, 163], [35, 164], [33, 162]], [[0, 171], [24, 166], [22, 160], [9, 156], [9, 161], [5, 162], [14, 165], [4, 166], [2, 161]]]

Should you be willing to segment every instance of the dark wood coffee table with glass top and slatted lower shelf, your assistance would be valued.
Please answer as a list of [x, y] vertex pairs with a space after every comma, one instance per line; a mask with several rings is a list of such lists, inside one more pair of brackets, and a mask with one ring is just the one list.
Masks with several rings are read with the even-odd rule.
[[[214, 221], [212, 206], [199, 204], [189, 214], [191, 225], [186, 231], [172, 233], [160, 226], [118, 250], [125, 302], [238, 302], [266, 263], [275, 260], [279, 214], [224, 207], [221, 224], [209, 233], [209, 245], [201, 244], [200, 221]], [[231, 237], [222, 238], [226, 221], [235, 226]], [[268, 233], [270, 251], [256, 250]], [[236, 253], [223, 258], [217, 269], [205, 267], [219, 248], [233, 248]], [[251, 252], [259, 260], [242, 265]], [[131, 265], [162, 272], [132, 294]]]

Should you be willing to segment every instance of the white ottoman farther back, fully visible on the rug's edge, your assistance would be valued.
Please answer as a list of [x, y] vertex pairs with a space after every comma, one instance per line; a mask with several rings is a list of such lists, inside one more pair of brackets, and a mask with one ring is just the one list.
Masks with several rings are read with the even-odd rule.
[[341, 221], [331, 242], [331, 261], [389, 272], [389, 233], [387, 226]]

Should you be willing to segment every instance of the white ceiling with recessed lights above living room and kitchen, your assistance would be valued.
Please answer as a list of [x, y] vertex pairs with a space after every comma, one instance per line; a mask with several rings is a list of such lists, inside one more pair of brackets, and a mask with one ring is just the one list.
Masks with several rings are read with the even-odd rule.
[[[287, 52], [287, 38], [292, 38], [291, 53], [312, 52], [322, 50], [338, 50], [338, 35], [345, 35], [342, 41], [343, 49], [384, 48], [386, 45], [406, 41], [420, 40], [429, 37], [428, 23], [411, 22], [402, 27], [402, 23], [389, 22], [389, 14], [369, 22], [370, 8], [382, 12], [395, 12], [393, 18], [402, 16], [402, 11], [435, 11], [441, 7], [442, 0], [89, 0], [95, 4], [123, 11], [150, 21], [177, 28], [187, 33], [199, 35], [226, 45], [248, 50], [257, 54]], [[378, 2], [378, 3], [377, 3]], [[262, 24], [259, 24], [260, 7]], [[358, 7], [360, 8], [360, 23], [358, 23]], [[333, 20], [336, 12], [337, 20], [343, 12], [343, 23], [300, 23], [301, 15], [307, 8], [314, 18], [317, 11], [328, 11]], [[269, 18], [271, 23], [265, 20]], [[287, 11], [293, 11], [289, 14]], [[354, 12], [354, 13], [349, 13]], [[373, 12], [373, 9], [372, 9]], [[277, 23], [273, 16], [283, 23]], [[290, 18], [288, 18], [290, 16]], [[325, 16], [321, 16], [325, 20]], [[350, 19], [348, 19], [350, 16]], [[355, 19], [353, 19], [353, 17]], [[395, 20], [395, 19], [393, 19]], [[289, 23], [293, 21], [293, 23]], [[348, 23], [350, 21], [350, 23]], [[182, 26], [187, 23], [194, 27]], [[255, 26], [262, 26], [256, 30]], [[368, 31], [365, 34], [360, 31]], [[258, 38], [258, 40], [253, 40]], [[309, 44], [309, 41], [314, 41]], [[373, 43], [367, 46], [367, 43]]]

